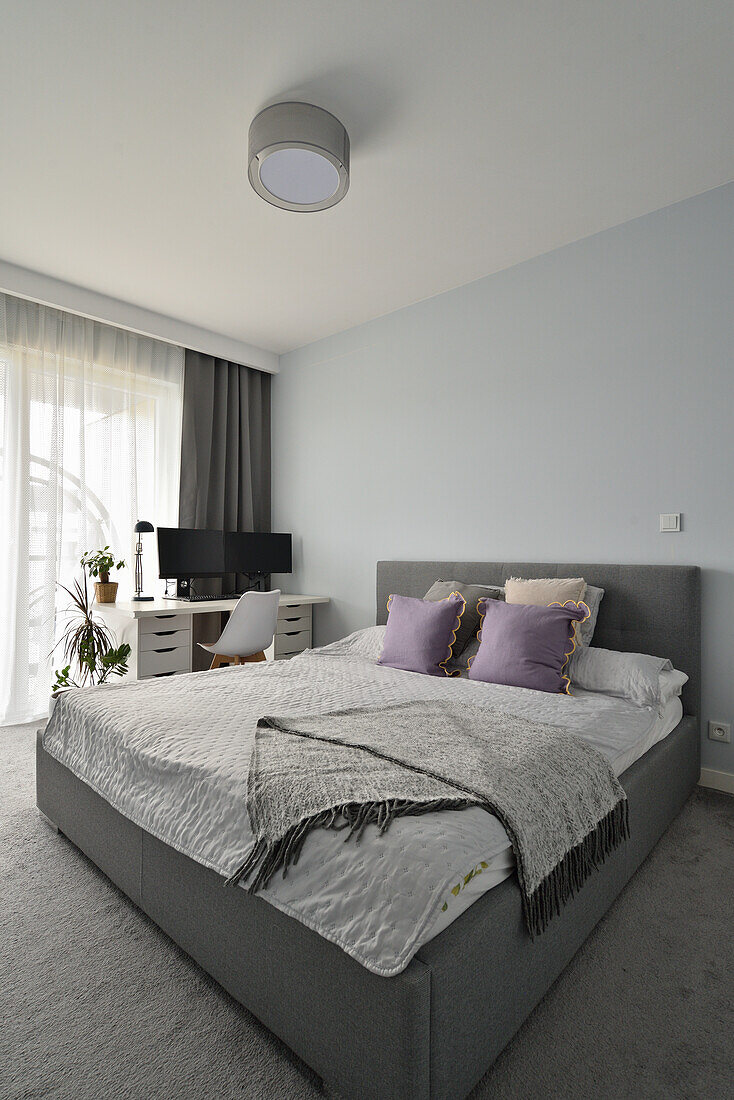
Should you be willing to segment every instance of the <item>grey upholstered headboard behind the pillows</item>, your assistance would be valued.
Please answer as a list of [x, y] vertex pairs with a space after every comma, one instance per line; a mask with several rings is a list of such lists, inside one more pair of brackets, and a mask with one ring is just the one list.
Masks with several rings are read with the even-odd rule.
[[683, 708], [701, 714], [701, 570], [698, 565], [596, 565], [526, 561], [379, 561], [377, 624], [387, 597], [425, 596], [434, 581], [504, 584], [510, 576], [583, 576], [604, 588], [594, 646], [669, 657], [687, 672]]

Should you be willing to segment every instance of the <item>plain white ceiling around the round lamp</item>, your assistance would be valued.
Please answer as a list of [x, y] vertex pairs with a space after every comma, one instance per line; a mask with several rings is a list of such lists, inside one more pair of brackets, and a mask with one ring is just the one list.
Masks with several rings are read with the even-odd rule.
[[[3, 0], [0, 257], [283, 352], [734, 178], [732, 0]], [[247, 178], [327, 108], [347, 198]]]

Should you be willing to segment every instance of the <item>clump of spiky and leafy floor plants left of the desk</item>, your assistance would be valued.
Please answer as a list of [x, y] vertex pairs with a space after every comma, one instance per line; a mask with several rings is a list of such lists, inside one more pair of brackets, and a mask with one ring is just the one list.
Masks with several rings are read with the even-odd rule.
[[[130, 646], [123, 642], [116, 647], [108, 628], [94, 617], [86, 572], [70, 588], [64, 584], [58, 586], [72, 597], [72, 606], [66, 612], [67, 623], [54, 649], [63, 646], [68, 663], [54, 670], [56, 679], [52, 694], [57, 695], [68, 688], [103, 684], [110, 676], [125, 675]], [[73, 664], [76, 666], [74, 675]]]

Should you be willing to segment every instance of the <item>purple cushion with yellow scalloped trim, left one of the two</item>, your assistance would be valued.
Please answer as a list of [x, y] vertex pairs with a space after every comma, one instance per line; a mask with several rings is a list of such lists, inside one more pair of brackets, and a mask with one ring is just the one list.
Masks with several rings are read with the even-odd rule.
[[464, 598], [458, 592], [438, 601], [391, 596], [385, 642], [377, 664], [429, 676], [450, 675], [446, 662], [451, 660], [464, 606]]

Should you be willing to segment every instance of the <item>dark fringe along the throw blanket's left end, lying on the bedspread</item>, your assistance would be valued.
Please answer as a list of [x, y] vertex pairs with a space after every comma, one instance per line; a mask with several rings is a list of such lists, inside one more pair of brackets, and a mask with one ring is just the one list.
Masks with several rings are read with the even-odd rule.
[[298, 862], [306, 837], [315, 828], [349, 829], [346, 839], [355, 837], [359, 843], [368, 825], [376, 825], [380, 832], [384, 833], [396, 817], [432, 814], [440, 810], [467, 810], [478, 804], [474, 799], [434, 799], [429, 802], [387, 799], [383, 802], [347, 802], [314, 814], [313, 817], [305, 817], [293, 825], [280, 840], [274, 840], [272, 844], [260, 837], [248, 858], [227, 879], [224, 886], [234, 887], [239, 882], [247, 882], [254, 875], [248, 887], [248, 893], [256, 893], [267, 886], [281, 868], [285, 878], [288, 868]]

